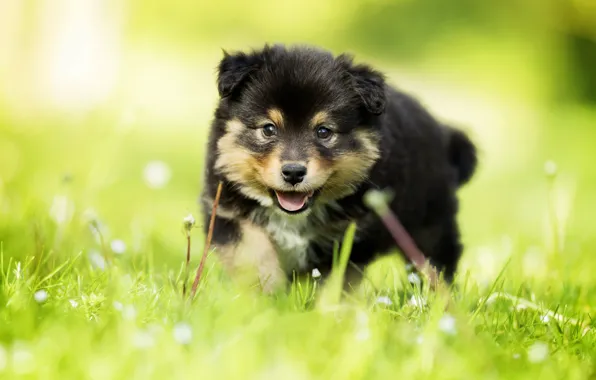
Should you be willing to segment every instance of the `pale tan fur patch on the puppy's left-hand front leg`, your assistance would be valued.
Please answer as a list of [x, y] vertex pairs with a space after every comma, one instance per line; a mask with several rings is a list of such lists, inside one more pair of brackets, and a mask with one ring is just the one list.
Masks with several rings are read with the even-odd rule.
[[287, 277], [269, 236], [248, 221], [240, 223], [240, 230], [238, 243], [216, 246], [225, 270], [241, 284], [259, 283], [265, 293], [284, 287]]

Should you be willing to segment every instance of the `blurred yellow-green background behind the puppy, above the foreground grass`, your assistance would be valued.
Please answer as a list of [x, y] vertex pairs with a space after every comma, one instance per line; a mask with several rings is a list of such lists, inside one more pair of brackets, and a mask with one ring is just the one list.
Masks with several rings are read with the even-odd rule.
[[510, 259], [591, 280], [593, 0], [2, 0], [4, 255], [87, 256], [91, 221], [115, 253], [177, 268], [222, 49], [266, 42], [354, 53], [470, 132], [462, 268], [479, 283]]

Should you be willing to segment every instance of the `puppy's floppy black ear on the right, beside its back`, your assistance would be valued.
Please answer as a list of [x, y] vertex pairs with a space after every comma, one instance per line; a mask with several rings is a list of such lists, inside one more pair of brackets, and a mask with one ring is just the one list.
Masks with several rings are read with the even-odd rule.
[[337, 61], [347, 71], [354, 91], [360, 96], [368, 112], [379, 115], [385, 111], [385, 77], [367, 65], [354, 65], [347, 54], [337, 57]]

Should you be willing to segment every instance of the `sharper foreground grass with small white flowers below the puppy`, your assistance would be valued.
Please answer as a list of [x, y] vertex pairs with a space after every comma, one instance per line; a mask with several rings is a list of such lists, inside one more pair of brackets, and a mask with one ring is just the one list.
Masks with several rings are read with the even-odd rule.
[[[6, 378], [555, 379], [592, 370], [591, 331], [515, 300], [486, 302], [509, 290], [503, 279], [487, 291], [464, 284], [447, 311], [447, 299], [411, 285], [313, 309], [312, 283], [268, 298], [234, 289], [214, 266], [189, 303], [182, 270], [135, 268], [126, 257], [104, 269], [81, 254], [2, 260]], [[425, 305], [409, 301], [421, 292]]]

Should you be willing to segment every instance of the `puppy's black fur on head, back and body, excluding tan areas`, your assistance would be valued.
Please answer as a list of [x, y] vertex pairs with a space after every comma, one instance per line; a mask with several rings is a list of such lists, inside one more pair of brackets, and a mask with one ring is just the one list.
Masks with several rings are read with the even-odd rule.
[[[253, 128], [257, 114], [271, 105], [283, 109], [290, 121], [323, 109], [337, 121], [341, 141], [333, 149], [313, 142], [321, 157], [337, 161], [342, 152], [362, 149], [351, 133], [365, 128], [379, 138], [380, 158], [367, 178], [354, 185], [353, 194], [337, 199], [335, 207], [318, 204], [326, 217], [309, 216], [309, 231], [325, 236], [312, 239], [307, 265], [289, 270], [307, 272], [316, 267], [327, 273], [332, 260], [330, 242], [341, 241], [351, 220], [358, 225], [353, 263], [364, 267], [378, 254], [394, 250], [391, 235], [363, 204], [363, 195], [374, 188], [392, 191], [391, 209], [445, 278], [453, 278], [462, 253], [456, 191], [471, 179], [477, 165], [476, 148], [462, 131], [442, 125], [411, 96], [386, 84], [378, 71], [355, 65], [346, 55], [333, 57], [314, 48], [276, 45], [250, 54], [226, 53], [219, 65], [218, 89], [221, 98], [206, 155], [205, 231], [219, 181], [224, 182], [220, 205], [235, 215], [232, 220], [217, 218], [215, 244], [238, 240], [238, 221], [250, 219], [264, 225], [268, 215], [266, 207], [238, 190], [239, 184], [214, 170], [225, 123], [238, 118]], [[308, 146], [300, 140], [298, 129], [295, 133], [295, 146]], [[253, 143], [247, 137], [238, 140], [247, 148]]]

